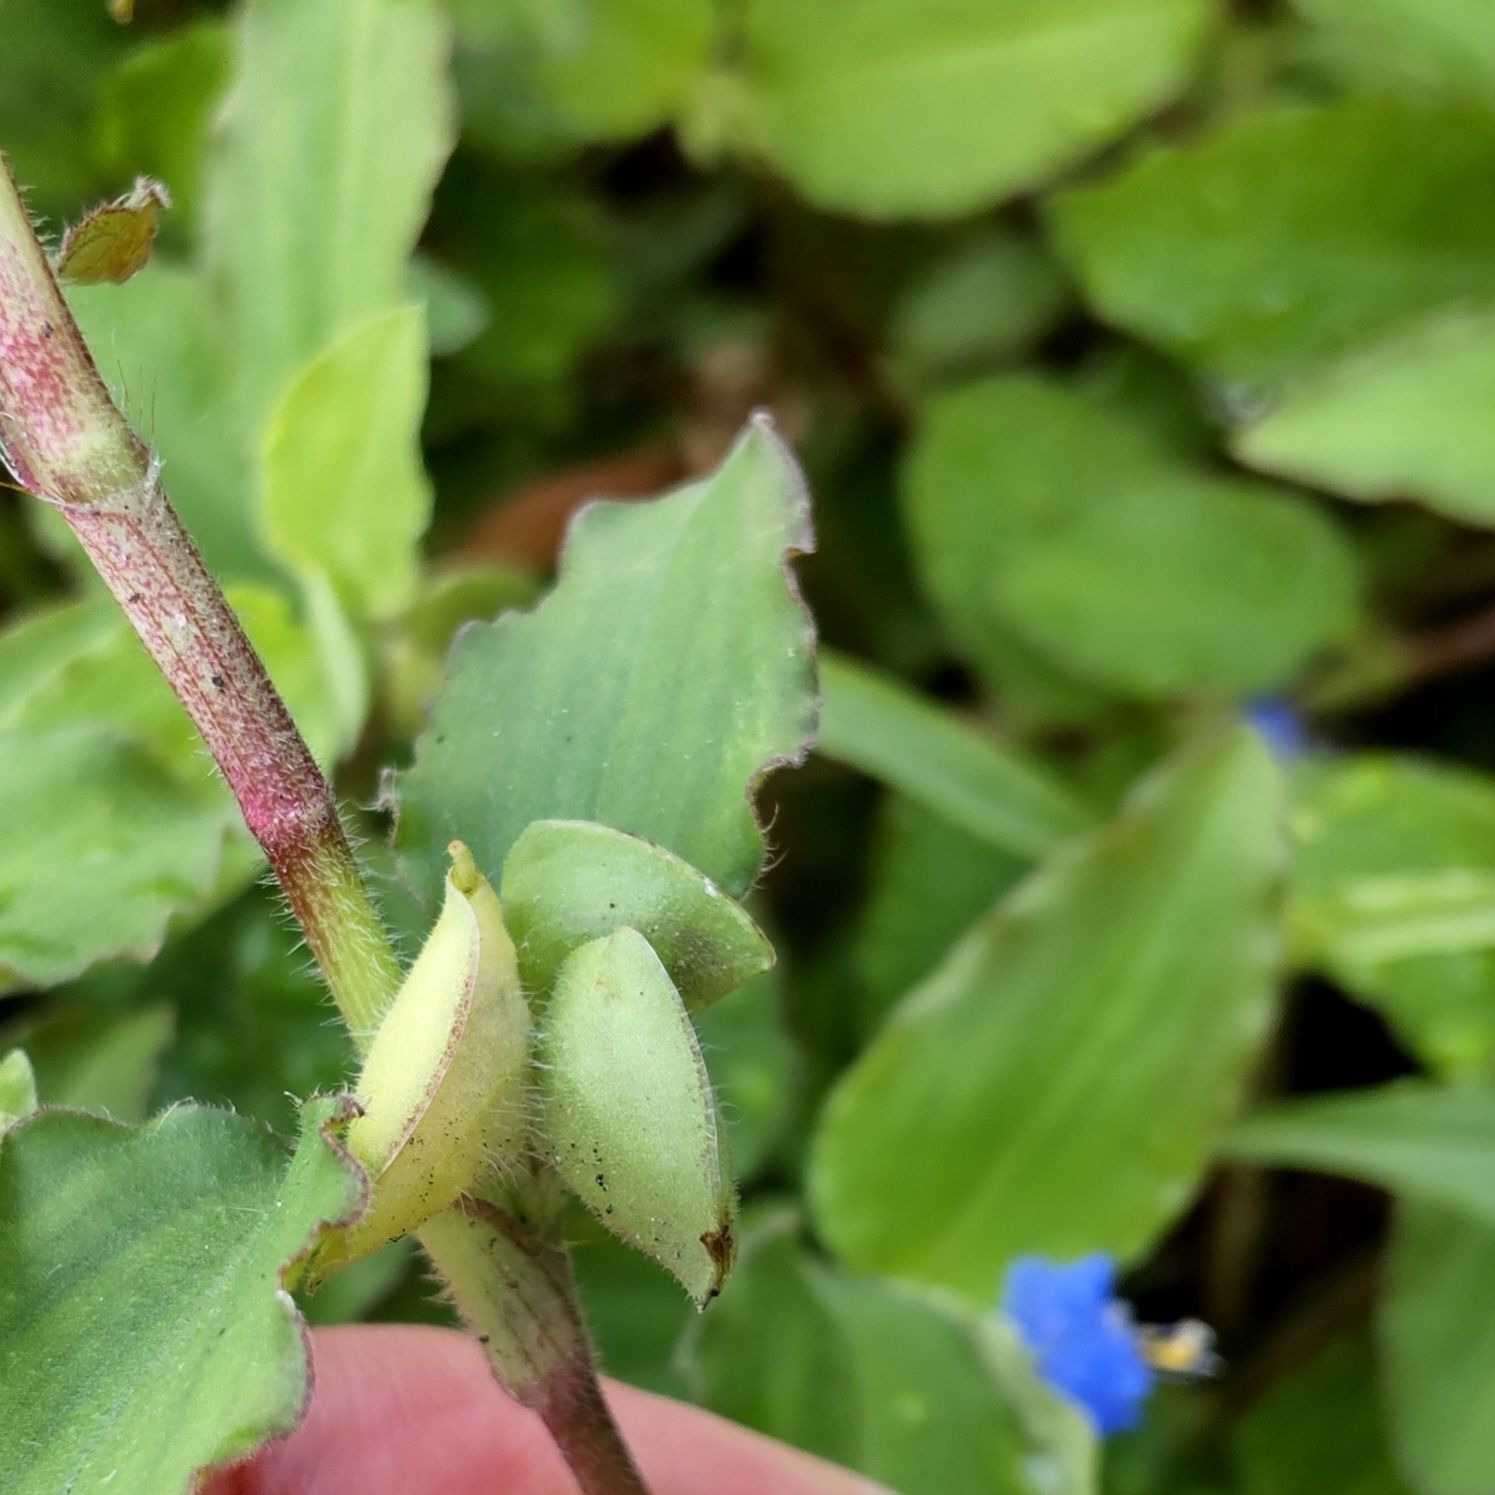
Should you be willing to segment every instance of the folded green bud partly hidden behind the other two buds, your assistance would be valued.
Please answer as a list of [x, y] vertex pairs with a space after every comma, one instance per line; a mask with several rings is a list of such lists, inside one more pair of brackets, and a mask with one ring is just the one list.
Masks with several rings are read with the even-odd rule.
[[710, 878], [661, 846], [588, 821], [535, 821], [504, 863], [504, 918], [541, 996], [579, 946], [628, 924], [653, 946], [686, 1011], [773, 964], [762, 930]]

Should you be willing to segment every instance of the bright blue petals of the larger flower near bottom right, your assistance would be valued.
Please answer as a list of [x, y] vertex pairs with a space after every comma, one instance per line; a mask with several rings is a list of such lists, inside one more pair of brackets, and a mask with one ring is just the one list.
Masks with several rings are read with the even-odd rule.
[[1153, 1389], [1132, 1313], [1114, 1287], [1115, 1262], [1097, 1251], [1067, 1266], [1020, 1256], [1002, 1290], [1002, 1310], [1039, 1375], [1100, 1434], [1135, 1428]]

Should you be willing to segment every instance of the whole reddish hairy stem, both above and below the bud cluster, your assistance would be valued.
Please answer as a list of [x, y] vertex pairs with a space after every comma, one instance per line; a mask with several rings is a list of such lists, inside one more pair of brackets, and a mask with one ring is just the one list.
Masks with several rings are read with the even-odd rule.
[[[67, 520], [191, 716], [365, 1046], [401, 972], [332, 788], [99, 377], [3, 157], [0, 457]], [[496, 1378], [540, 1413], [586, 1495], [644, 1495], [564, 1250], [486, 1200], [420, 1238]]]

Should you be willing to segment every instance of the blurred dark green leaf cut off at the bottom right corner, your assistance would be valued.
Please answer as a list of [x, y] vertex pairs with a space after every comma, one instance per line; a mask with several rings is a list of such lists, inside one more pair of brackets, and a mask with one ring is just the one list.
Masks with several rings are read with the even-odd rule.
[[1378, 1338], [1392, 1447], [1417, 1495], [1495, 1488], [1495, 1227], [1399, 1205]]

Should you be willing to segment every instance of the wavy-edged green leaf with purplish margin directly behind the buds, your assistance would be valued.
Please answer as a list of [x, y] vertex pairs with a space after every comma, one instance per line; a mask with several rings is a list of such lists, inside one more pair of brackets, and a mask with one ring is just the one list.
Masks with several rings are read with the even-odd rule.
[[745, 788], [813, 730], [810, 626], [785, 570], [810, 543], [765, 423], [703, 481], [586, 508], [550, 595], [457, 640], [393, 785], [411, 885], [429, 897], [456, 837], [496, 870], [531, 821], [588, 819], [740, 894], [762, 860]]

